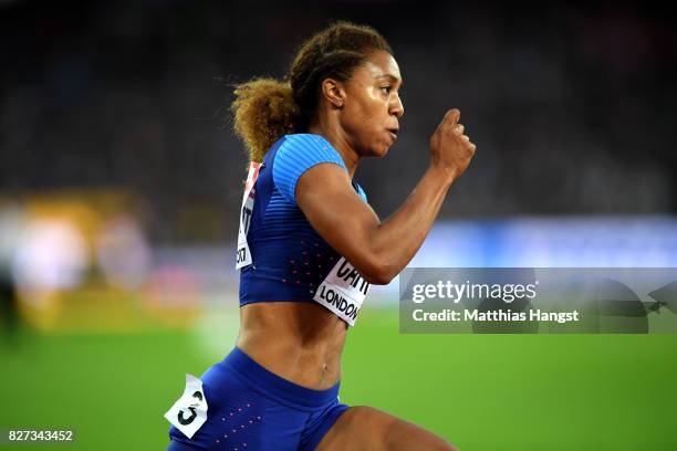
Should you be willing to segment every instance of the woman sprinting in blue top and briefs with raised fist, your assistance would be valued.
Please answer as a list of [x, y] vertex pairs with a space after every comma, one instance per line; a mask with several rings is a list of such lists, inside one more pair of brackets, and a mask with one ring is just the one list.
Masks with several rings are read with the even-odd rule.
[[475, 154], [450, 109], [430, 138], [429, 168], [381, 222], [353, 175], [397, 139], [400, 87], [384, 38], [338, 22], [301, 46], [287, 81], [236, 88], [235, 129], [251, 158], [238, 240], [240, 334], [187, 385], [189, 402], [167, 413], [169, 450], [454, 449], [338, 400], [341, 353], [369, 284], [388, 283], [412, 260]]

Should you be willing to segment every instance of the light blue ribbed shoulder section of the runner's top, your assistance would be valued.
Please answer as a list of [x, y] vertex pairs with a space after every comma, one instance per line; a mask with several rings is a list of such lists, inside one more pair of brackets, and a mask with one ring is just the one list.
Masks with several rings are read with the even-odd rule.
[[296, 203], [299, 177], [321, 162], [331, 162], [347, 171], [341, 155], [324, 137], [313, 134], [285, 135], [274, 145], [272, 165], [275, 187], [291, 203]]

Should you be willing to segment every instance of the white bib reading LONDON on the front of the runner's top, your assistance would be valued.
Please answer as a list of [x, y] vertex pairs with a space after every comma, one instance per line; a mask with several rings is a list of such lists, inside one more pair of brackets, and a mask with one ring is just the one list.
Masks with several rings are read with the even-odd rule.
[[342, 256], [317, 287], [313, 301], [354, 326], [368, 291], [368, 282]]

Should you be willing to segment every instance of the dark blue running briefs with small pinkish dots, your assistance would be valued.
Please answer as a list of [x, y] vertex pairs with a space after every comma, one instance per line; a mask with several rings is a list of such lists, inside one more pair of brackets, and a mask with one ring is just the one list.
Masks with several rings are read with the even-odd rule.
[[192, 439], [171, 426], [167, 451], [314, 450], [348, 408], [338, 401], [340, 382], [326, 390], [301, 387], [237, 347], [200, 379], [207, 421]]

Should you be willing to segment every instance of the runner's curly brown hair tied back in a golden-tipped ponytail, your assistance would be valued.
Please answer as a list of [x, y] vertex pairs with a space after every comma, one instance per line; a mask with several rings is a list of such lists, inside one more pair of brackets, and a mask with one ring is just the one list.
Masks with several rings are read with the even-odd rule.
[[335, 22], [305, 41], [284, 80], [254, 78], [235, 88], [233, 128], [252, 161], [262, 161], [282, 136], [308, 129], [315, 119], [322, 81], [347, 82], [374, 51], [393, 54], [373, 28]]

